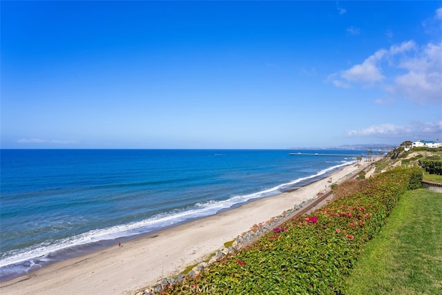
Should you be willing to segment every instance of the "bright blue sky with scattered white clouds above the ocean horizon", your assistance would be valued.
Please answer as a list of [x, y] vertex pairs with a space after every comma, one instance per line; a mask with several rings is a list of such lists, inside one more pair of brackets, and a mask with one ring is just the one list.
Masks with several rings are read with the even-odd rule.
[[1, 148], [442, 140], [442, 1], [1, 1]]

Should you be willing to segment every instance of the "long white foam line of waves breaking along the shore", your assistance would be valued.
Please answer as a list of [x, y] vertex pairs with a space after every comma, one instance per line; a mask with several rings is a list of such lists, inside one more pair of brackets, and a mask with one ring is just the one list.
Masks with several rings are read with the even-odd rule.
[[113, 240], [121, 237], [134, 236], [137, 234], [146, 234], [148, 232], [160, 230], [161, 228], [169, 227], [171, 225], [177, 225], [179, 223], [195, 218], [210, 216], [222, 210], [227, 210], [235, 205], [245, 203], [253, 199], [259, 199], [265, 196], [278, 194], [282, 192], [282, 189], [284, 187], [291, 187], [296, 185], [297, 183], [308, 181], [309, 179], [314, 179], [316, 177], [327, 174], [332, 170], [336, 170], [339, 167], [350, 165], [352, 163], [354, 163], [354, 161], [342, 161], [340, 164], [328, 167], [324, 170], [321, 170], [320, 172], [317, 172], [316, 174], [302, 177], [289, 183], [282, 183], [280, 185], [276, 185], [275, 187], [271, 187], [260, 192], [255, 192], [253, 194], [231, 196], [231, 198], [222, 201], [208, 201], [204, 203], [197, 203], [195, 204], [195, 206], [186, 210], [174, 210], [172, 212], [158, 214], [144, 221], [128, 223], [125, 225], [116, 225], [104, 229], [91, 230], [89, 232], [85, 232], [84, 234], [65, 238], [52, 244], [41, 243], [40, 245], [37, 245], [37, 247], [28, 247], [23, 250], [8, 252], [3, 254], [4, 258], [1, 258], [0, 260], [0, 267], [5, 267], [7, 265], [21, 263], [24, 261], [28, 261], [30, 263], [30, 267], [32, 267], [32, 265], [34, 264], [33, 259], [38, 258], [39, 261], [46, 261], [47, 259], [50, 260], [50, 258], [47, 258], [48, 254], [57, 252], [59, 250], [64, 250], [69, 247], [86, 245], [97, 241]]

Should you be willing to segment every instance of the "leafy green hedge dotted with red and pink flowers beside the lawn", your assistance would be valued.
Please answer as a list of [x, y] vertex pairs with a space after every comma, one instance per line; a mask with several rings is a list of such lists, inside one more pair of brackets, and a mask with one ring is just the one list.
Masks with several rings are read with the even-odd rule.
[[419, 187], [416, 168], [397, 167], [364, 181], [309, 216], [292, 218], [164, 294], [343, 294], [345, 278], [401, 196]]

